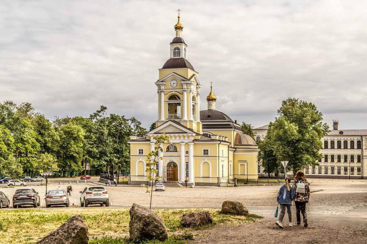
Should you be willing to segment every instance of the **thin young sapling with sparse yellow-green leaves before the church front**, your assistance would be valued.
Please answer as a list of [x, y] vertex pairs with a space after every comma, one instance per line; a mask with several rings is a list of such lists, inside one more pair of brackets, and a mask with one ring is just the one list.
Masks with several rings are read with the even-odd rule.
[[154, 149], [148, 154], [145, 165], [145, 172], [148, 174], [148, 180], [152, 181], [151, 191], [149, 191], [149, 187], [147, 185], [145, 186], [146, 193], [148, 193], [150, 196], [149, 209], [151, 209], [152, 207], [153, 183], [155, 180], [159, 180], [160, 178], [162, 178], [162, 176], [157, 176], [158, 170], [156, 169], [157, 162], [163, 159], [162, 157], [159, 157], [159, 152], [163, 152], [162, 145], [166, 142], [169, 143], [170, 138], [166, 134], [162, 133], [162, 135], [160, 136], [155, 136], [153, 140], [155, 140]]

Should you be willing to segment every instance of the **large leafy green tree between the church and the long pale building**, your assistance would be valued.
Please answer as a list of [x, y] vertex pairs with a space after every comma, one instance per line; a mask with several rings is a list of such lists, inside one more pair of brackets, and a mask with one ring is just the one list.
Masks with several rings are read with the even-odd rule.
[[321, 121], [322, 113], [315, 104], [296, 98], [283, 101], [266, 135], [277, 161], [288, 161], [287, 167], [294, 173], [308, 165], [319, 165], [321, 138], [329, 129]]

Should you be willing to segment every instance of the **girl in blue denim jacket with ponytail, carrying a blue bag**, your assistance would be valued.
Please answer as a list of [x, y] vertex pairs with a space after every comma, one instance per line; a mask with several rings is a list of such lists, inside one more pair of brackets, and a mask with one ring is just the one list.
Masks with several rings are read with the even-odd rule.
[[283, 225], [281, 224], [281, 222], [283, 222], [284, 214], [286, 214], [286, 209], [288, 213], [289, 226], [292, 226], [291, 206], [292, 206], [292, 199], [294, 198], [294, 192], [293, 188], [289, 187], [289, 183], [291, 183], [291, 178], [287, 177], [286, 183], [280, 187], [278, 195], [276, 197], [276, 200], [280, 205], [280, 214], [279, 219], [277, 222], [275, 222], [275, 224], [282, 229]]

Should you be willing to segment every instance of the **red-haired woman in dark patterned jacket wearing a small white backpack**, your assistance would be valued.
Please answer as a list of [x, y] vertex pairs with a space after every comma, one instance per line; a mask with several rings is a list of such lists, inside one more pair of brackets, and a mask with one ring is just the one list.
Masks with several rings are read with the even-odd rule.
[[306, 180], [305, 174], [302, 170], [298, 170], [296, 176], [294, 177], [292, 188], [295, 192], [294, 196], [294, 204], [296, 206], [296, 217], [297, 217], [297, 225], [301, 225], [301, 215], [303, 216], [304, 226], [307, 227], [307, 214], [306, 214], [306, 203], [308, 203], [308, 199], [310, 198], [310, 187], [309, 183]]

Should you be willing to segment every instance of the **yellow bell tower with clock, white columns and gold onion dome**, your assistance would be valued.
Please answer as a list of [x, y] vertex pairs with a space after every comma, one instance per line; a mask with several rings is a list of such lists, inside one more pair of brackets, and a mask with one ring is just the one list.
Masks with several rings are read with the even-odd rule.
[[182, 39], [183, 25], [179, 15], [174, 29], [176, 34], [170, 43], [170, 58], [159, 69], [159, 80], [155, 83], [158, 92], [156, 127], [174, 120], [201, 133], [199, 73], [187, 60], [188, 45]]

